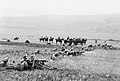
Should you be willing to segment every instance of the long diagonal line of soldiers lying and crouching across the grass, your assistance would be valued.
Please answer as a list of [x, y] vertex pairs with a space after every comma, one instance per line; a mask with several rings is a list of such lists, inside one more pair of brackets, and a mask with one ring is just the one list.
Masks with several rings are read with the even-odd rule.
[[[106, 45], [105, 45], [106, 46]], [[69, 48], [68, 48], [69, 47]], [[98, 45], [97, 47], [104, 47], [104, 45], [100, 46]], [[109, 48], [113, 48], [112, 46], [108, 46]], [[85, 47], [81, 47], [78, 50], [75, 50], [75, 48], [73, 48], [72, 46], [65, 46], [64, 44], [60, 47], [60, 48], [55, 48], [53, 51], [54, 53], [52, 54], [52, 56], [50, 57], [50, 59], [52, 61], [56, 60], [59, 58], [59, 56], [81, 56], [84, 55], [84, 53], [86, 51], [93, 51], [96, 49], [96, 45], [89, 45], [89, 46], [85, 46]], [[31, 70], [31, 69], [35, 69], [35, 68], [41, 68], [44, 64], [44, 62], [49, 62], [46, 59], [42, 59], [42, 60], [38, 60], [36, 59], [36, 54], [41, 54], [39, 50], [37, 50], [35, 53], [29, 54], [29, 55], [24, 55], [21, 59], [21, 61], [19, 63], [17, 63], [16, 65], [16, 61], [12, 61], [12, 67], [11, 65], [9, 65], [7, 67], [7, 69], [9, 68], [14, 68], [14, 69], [18, 69], [18, 70]], [[85, 55], [84, 55], [85, 56]], [[8, 63], [9, 58], [6, 57], [4, 60], [1, 61], [0, 66], [2, 67], [6, 67], [7, 63]], [[43, 67], [43, 68], [46, 68]], [[48, 69], [51, 69], [51, 67], [47, 66]]]

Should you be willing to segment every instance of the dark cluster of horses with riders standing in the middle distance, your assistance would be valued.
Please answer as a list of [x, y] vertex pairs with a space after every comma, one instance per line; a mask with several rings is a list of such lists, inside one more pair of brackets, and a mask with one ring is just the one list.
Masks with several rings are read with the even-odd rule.
[[73, 45], [86, 45], [87, 39], [86, 38], [70, 38], [69, 36], [67, 38], [54, 38], [54, 37], [43, 37], [41, 36], [41, 38], [39, 38], [40, 42], [49, 42], [49, 43], [53, 43], [53, 41], [56, 42], [56, 44], [60, 43], [60, 44], [68, 44], [69, 46]]

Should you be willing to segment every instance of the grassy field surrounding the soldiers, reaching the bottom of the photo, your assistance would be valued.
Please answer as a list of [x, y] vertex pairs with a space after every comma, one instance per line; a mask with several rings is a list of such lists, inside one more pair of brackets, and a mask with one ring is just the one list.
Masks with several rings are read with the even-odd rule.
[[[9, 63], [19, 62], [26, 52], [39, 49], [37, 59], [50, 59], [53, 49], [59, 46], [0, 42], [0, 60], [10, 57]], [[78, 49], [78, 48], [76, 48]], [[47, 65], [59, 70], [15, 71], [0, 68], [0, 81], [120, 81], [120, 51], [95, 50], [85, 56], [66, 56], [50, 61]]]

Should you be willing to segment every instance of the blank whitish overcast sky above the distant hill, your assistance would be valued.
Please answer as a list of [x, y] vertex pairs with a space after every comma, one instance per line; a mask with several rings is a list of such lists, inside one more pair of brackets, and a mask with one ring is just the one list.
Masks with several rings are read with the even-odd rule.
[[0, 0], [0, 16], [116, 13], [120, 13], [120, 0]]

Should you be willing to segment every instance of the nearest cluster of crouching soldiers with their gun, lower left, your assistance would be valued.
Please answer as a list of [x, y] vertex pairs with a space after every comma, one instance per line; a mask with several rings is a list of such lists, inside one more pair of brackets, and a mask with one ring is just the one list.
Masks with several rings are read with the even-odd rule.
[[35, 54], [32, 54], [31, 56], [25, 54], [19, 62], [13, 60], [9, 63], [9, 59], [9, 57], [5, 57], [1, 61], [0, 67], [5, 67], [6, 69], [16, 69], [20, 71], [43, 68], [43, 66], [51, 69], [51, 67], [45, 65], [45, 62], [48, 62], [46, 59], [36, 59]]

